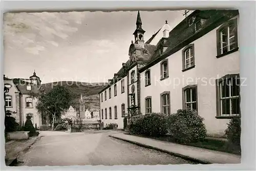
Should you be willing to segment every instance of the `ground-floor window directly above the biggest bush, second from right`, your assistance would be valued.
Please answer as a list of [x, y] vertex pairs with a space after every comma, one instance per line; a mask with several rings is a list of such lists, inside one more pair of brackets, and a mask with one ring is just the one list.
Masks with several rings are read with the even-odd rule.
[[197, 110], [197, 90], [196, 87], [187, 88], [184, 90], [185, 107]]

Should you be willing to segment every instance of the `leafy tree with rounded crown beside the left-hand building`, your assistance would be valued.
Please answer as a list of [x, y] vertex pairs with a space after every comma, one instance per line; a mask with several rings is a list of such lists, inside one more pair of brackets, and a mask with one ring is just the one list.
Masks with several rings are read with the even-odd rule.
[[36, 109], [45, 112], [54, 129], [54, 118], [60, 117], [61, 112], [72, 105], [74, 95], [64, 86], [54, 86], [52, 89], [41, 89], [39, 92], [31, 92], [31, 97], [37, 99]]

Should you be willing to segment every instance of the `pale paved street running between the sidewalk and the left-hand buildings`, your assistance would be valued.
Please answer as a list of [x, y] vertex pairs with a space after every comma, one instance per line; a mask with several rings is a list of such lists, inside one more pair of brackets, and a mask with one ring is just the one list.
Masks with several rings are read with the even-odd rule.
[[20, 165], [27, 166], [188, 163], [183, 159], [108, 136], [115, 133], [118, 132], [41, 132], [41, 137], [18, 160], [23, 161]]

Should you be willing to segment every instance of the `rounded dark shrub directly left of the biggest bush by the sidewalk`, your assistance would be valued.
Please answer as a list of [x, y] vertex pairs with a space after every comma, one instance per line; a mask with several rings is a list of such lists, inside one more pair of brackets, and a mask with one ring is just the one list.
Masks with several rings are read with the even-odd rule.
[[167, 133], [166, 115], [150, 113], [143, 117], [143, 132], [148, 136], [161, 136]]

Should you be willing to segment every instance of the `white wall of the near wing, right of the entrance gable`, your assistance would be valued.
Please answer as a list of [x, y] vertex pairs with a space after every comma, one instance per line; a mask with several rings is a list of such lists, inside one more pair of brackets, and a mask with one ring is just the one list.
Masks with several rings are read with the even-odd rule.
[[[145, 113], [146, 96], [152, 96], [152, 111], [161, 111], [160, 94], [163, 91], [170, 91], [170, 112], [175, 113], [178, 109], [182, 108], [182, 87], [188, 84], [196, 84], [196, 78], [204, 78], [197, 81], [198, 113], [205, 119], [204, 124], [206, 125], [208, 135], [222, 136], [224, 134], [229, 119], [217, 119], [215, 117], [217, 115], [215, 80], [226, 74], [239, 74], [240, 59], [239, 51], [216, 58], [216, 30], [218, 28], [192, 42], [195, 46], [195, 68], [182, 72], [183, 49], [167, 57], [168, 79], [160, 81], [160, 62], [150, 68], [151, 85], [145, 87], [145, 80], [141, 79], [140, 100], [141, 112], [143, 114]], [[141, 77], [144, 78], [144, 76], [145, 71], [141, 73]], [[180, 84], [178, 80], [180, 80]], [[207, 84], [205, 84], [205, 81], [207, 81]]]

